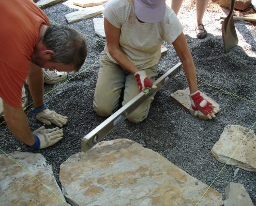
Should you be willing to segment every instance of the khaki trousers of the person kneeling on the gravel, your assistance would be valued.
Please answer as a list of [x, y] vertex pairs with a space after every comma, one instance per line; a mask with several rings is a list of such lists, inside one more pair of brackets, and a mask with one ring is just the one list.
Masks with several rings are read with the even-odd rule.
[[[146, 68], [145, 72], [150, 81], [154, 82], [157, 76], [157, 65]], [[113, 63], [103, 51], [100, 57], [100, 69], [94, 93], [93, 107], [98, 115], [110, 116], [113, 114], [121, 99], [124, 88], [124, 106], [133, 97], [139, 94], [139, 85], [136, 78], [125, 71], [118, 64]], [[135, 109], [127, 119], [133, 123], [139, 123], [147, 117], [152, 97]]]

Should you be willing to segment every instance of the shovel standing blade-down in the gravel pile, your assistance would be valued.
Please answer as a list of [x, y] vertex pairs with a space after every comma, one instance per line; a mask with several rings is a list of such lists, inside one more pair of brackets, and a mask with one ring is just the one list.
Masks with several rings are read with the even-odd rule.
[[231, 0], [231, 6], [228, 16], [223, 20], [221, 25], [222, 39], [224, 43], [225, 53], [229, 52], [238, 43], [238, 38], [235, 31], [235, 24], [233, 19], [233, 10], [235, 7], [235, 0]]

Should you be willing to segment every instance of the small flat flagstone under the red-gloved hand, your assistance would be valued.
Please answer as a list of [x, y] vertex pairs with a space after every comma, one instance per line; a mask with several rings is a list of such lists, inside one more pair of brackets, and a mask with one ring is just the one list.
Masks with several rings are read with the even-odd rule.
[[[212, 98], [206, 96], [203, 92], [200, 92], [201, 96], [204, 97], [207, 101], [211, 102], [216, 108], [219, 108], [219, 104], [214, 101]], [[171, 94], [171, 97], [175, 99], [186, 111], [190, 114], [194, 115], [194, 110], [191, 107], [191, 100], [189, 97], [190, 91], [189, 88], [185, 90], [177, 90], [176, 92]], [[200, 119], [207, 119], [205, 116], [198, 116]]]

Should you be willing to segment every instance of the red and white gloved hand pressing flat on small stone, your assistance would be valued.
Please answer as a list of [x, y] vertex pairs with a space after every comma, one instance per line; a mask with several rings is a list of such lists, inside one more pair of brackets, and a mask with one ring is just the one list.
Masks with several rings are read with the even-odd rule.
[[204, 99], [199, 91], [190, 94], [190, 100], [194, 116], [206, 116], [208, 119], [212, 119], [219, 112], [219, 108]]

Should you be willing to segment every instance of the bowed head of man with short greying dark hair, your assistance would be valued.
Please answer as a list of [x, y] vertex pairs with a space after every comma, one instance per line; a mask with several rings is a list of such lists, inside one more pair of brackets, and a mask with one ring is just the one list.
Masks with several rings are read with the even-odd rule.
[[41, 67], [69, 66], [70, 70], [78, 71], [86, 56], [86, 40], [81, 33], [65, 25], [49, 25], [41, 46], [34, 48], [32, 62]]

